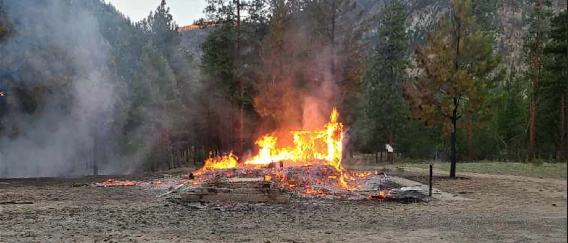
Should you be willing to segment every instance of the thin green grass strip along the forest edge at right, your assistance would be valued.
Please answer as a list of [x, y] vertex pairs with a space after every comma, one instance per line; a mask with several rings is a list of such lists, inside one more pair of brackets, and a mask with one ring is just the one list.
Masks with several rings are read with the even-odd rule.
[[[408, 167], [428, 168], [428, 163], [404, 164]], [[434, 163], [437, 170], [450, 170], [450, 163]], [[484, 174], [509, 174], [515, 176], [529, 176], [539, 178], [568, 178], [568, 164], [566, 163], [513, 163], [484, 161], [478, 163], [458, 163], [456, 171]]]

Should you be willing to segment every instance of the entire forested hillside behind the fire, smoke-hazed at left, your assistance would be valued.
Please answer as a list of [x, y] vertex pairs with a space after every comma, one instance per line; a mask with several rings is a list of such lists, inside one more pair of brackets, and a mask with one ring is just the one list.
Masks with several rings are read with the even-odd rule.
[[166, 1], [1, 3], [2, 176], [247, 155], [333, 106], [345, 156], [566, 162], [565, 1], [207, 0], [189, 30]]

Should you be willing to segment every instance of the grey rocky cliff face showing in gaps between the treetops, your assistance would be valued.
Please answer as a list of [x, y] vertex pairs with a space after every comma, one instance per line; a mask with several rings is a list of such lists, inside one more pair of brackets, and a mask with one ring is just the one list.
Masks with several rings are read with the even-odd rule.
[[[366, 16], [376, 15], [389, 0], [356, 0]], [[402, 0], [407, 5], [408, 35], [412, 45], [422, 44], [424, 34], [435, 27], [438, 16], [448, 11], [449, 0]], [[494, 0], [496, 7], [495, 25], [503, 66], [523, 67], [523, 40], [528, 33], [528, 17], [532, 11], [529, 0]], [[486, 1], [489, 2], [489, 1]], [[552, 0], [554, 12], [565, 10], [566, 0]], [[364, 18], [365, 19], [365, 18]], [[378, 23], [370, 32], [376, 31]], [[182, 43], [199, 55], [199, 45], [213, 28], [195, 28], [194, 25], [180, 27]]]

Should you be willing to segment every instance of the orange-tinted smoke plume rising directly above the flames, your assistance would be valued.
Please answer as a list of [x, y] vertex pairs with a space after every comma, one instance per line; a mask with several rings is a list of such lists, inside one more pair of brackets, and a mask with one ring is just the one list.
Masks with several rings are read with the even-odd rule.
[[341, 74], [333, 75], [331, 67], [336, 50], [325, 37], [314, 37], [311, 21], [289, 21], [283, 29], [273, 26], [274, 32], [265, 37], [255, 96], [257, 112], [272, 117], [279, 139], [290, 137], [290, 130], [323, 127], [341, 102]]

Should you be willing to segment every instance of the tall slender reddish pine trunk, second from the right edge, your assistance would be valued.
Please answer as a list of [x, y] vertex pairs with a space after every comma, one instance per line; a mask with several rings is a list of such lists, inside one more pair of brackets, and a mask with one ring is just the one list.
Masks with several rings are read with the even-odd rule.
[[531, 80], [532, 97], [531, 97], [531, 126], [529, 127], [529, 148], [528, 148], [528, 160], [533, 161], [534, 158], [534, 133], [536, 132], [536, 113], [537, 113], [537, 89], [538, 81], [540, 79], [540, 39], [541, 39], [541, 22], [542, 22], [542, 5], [543, 0], [538, 3], [538, 16], [537, 16], [537, 32], [536, 32], [536, 44], [534, 45], [534, 73], [536, 75]]

